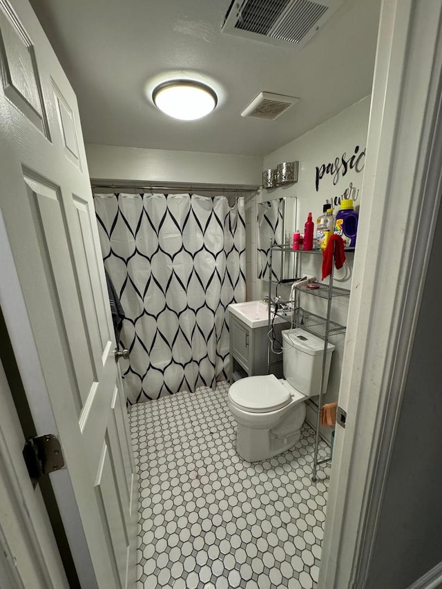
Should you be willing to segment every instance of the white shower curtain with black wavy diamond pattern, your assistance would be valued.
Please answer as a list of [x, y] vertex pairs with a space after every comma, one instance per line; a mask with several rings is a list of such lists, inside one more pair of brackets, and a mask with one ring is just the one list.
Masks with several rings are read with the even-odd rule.
[[128, 403], [229, 375], [227, 305], [245, 300], [244, 198], [95, 194], [104, 264], [126, 313]]

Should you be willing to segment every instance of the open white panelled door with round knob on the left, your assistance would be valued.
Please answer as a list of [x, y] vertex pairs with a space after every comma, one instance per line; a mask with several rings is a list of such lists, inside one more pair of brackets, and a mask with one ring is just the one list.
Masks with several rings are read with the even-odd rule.
[[81, 586], [133, 587], [137, 483], [77, 102], [27, 0], [0, 0], [0, 60], [0, 305], [37, 435], [61, 441]]

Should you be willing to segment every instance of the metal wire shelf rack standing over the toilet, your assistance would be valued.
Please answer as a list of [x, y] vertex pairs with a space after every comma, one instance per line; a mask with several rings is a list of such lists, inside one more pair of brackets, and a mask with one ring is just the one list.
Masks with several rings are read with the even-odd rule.
[[[301, 269], [302, 269], [302, 257], [305, 255], [314, 255], [318, 256], [322, 254], [322, 251], [317, 250], [294, 250], [287, 246], [281, 245], [271, 245], [269, 251], [269, 267], [270, 267], [270, 276], [273, 276], [271, 267], [272, 267], [272, 259], [273, 259], [273, 252], [285, 252], [290, 253], [291, 255], [295, 256], [294, 259], [294, 276], [300, 277], [302, 276]], [[349, 250], [346, 250], [346, 253]], [[350, 250], [352, 251], [352, 250]], [[320, 261], [322, 262], [322, 255], [320, 256]], [[314, 447], [314, 463], [313, 463], [313, 473], [311, 474], [311, 480], [316, 482], [318, 481], [318, 465], [329, 462], [330, 458], [325, 458], [323, 460], [318, 460], [318, 447], [319, 447], [319, 431], [320, 431], [320, 411], [323, 407], [323, 396], [325, 395], [327, 389], [327, 383], [325, 382], [325, 366], [327, 361], [327, 345], [329, 342], [330, 336], [337, 336], [338, 334], [345, 333], [345, 325], [340, 325], [330, 319], [331, 311], [332, 311], [332, 300], [336, 297], [343, 297], [349, 296], [350, 291], [347, 289], [343, 289], [340, 287], [335, 287], [333, 284], [333, 274], [334, 274], [334, 264], [332, 264], [332, 272], [329, 276], [329, 283], [324, 284], [318, 282], [318, 288], [311, 289], [307, 286], [298, 287], [296, 289], [296, 301], [294, 308], [291, 309], [291, 322], [292, 325], [296, 327], [302, 327], [305, 331], [308, 331], [310, 334], [314, 336], [318, 336], [322, 340], [324, 340], [324, 354], [323, 354], [323, 366], [322, 366], [322, 374], [320, 380], [320, 392], [318, 395], [318, 411], [316, 416], [316, 432], [315, 432], [315, 447]], [[296, 280], [294, 278], [293, 280]], [[285, 281], [287, 282], [287, 281]], [[277, 285], [278, 282], [274, 280], [269, 281], [269, 301], [271, 301], [272, 296], [272, 286]], [[311, 313], [311, 311], [307, 311], [303, 307], [300, 306], [300, 296], [303, 294], [319, 297], [327, 300], [327, 313], [325, 317], [316, 315], [316, 313]], [[270, 305], [269, 305], [270, 307]], [[280, 316], [280, 313], [276, 313]], [[287, 310], [284, 311], [284, 317], [287, 318]], [[269, 329], [271, 328], [271, 309], [269, 308]], [[269, 342], [269, 349], [270, 349], [270, 342]], [[270, 356], [268, 356], [270, 358]], [[268, 368], [270, 368], [270, 362], [268, 364]]]

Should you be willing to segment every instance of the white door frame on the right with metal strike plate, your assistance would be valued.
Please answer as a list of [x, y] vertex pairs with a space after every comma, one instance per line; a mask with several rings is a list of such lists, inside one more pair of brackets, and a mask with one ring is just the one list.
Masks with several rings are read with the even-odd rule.
[[441, 200], [441, 17], [439, 0], [381, 8], [318, 589], [365, 587], [373, 555]]

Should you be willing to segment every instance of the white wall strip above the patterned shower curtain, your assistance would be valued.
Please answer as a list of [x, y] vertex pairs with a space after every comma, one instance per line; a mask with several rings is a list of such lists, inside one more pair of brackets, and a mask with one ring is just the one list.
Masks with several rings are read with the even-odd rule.
[[95, 180], [259, 186], [262, 157], [86, 144]]

